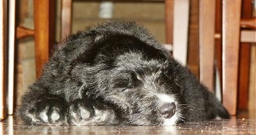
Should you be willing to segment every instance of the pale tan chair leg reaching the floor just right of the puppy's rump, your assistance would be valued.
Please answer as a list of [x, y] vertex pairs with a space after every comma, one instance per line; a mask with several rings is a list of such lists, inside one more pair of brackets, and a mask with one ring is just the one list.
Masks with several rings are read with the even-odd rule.
[[223, 0], [223, 105], [236, 115], [241, 1]]

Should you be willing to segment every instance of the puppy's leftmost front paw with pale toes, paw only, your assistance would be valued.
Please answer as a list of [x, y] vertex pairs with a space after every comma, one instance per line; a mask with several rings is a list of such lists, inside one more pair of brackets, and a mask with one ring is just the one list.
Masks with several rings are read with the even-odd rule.
[[28, 109], [27, 116], [36, 125], [62, 125], [65, 123], [65, 104], [57, 99], [44, 99]]

